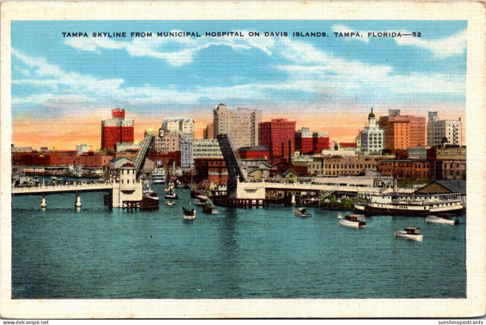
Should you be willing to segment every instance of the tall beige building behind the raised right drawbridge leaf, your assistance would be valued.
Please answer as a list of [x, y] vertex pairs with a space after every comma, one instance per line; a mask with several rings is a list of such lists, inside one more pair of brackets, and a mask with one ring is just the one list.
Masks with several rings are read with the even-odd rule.
[[227, 134], [234, 150], [258, 145], [261, 109], [230, 109], [219, 104], [213, 110], [213, 118], [214, 136]]

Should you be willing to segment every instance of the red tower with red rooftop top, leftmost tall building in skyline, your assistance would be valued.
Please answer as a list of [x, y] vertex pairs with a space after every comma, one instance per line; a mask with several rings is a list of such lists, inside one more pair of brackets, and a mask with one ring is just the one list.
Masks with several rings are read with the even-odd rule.
[[125, 110], [111, 110], [111, 120], [101, 122], [101, 149], [113, 149], [117, 143], [133, 143], [133, 120], [125, 120]]

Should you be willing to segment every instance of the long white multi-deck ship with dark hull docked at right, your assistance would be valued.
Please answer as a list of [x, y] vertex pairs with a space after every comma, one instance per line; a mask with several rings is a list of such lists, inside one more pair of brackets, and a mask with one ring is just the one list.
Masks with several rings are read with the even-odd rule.
[[358, 193], [354, 209], [364, 214], [427, 216], [461, 213], [464, 210], [460, 194], [367, 194]]

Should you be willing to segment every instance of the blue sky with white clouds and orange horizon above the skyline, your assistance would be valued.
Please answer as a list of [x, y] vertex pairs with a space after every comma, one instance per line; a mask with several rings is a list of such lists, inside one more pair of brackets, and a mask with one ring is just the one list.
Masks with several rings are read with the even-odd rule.
[[[467, 21], [13, 21], [11, 29], [16, 146], [96, 150], [113, 108], [135, 120], [136, 142], [172, 116], [194, 118], [202, 137], [219, 103], [262, 109], [263, 121], [288, 118], [343, 142], [354, 141], [371, 107], [378, 118], [399, 108], [465, 121]], [[156, 37], [171, 31], [202, 37]], [[244, 36], [205, 36], [231, 31]], [[92, 36], [102, 32], [127, 37]], [[421, 37], [368, 37], [373, 32]]]

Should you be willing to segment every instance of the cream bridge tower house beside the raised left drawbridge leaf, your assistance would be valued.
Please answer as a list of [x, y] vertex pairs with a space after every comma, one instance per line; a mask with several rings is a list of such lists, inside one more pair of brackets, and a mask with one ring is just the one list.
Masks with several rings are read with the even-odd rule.
[[111, 197], [113, 208], [123, 207], [123, 202], [142, 200], [142, 182], [137, 179], [133, 163], [127, 162], [121, 166], [118, 180], [113, 183]]

